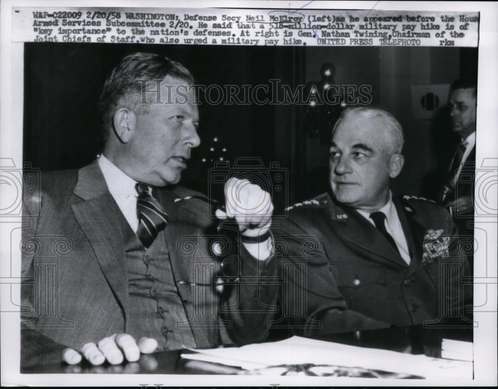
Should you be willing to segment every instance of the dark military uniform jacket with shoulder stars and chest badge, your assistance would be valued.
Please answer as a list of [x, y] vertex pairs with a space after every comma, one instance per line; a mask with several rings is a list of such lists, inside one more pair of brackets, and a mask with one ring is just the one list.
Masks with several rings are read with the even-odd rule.
[[[286, 276], [294, 288], [304, 289], [295, 295], [305, 296], [307, 313], [306, 318], [290, 315], [291, 324], [301, 324], [305, 334], [376, 328], [381, 323], [415, 325], [444, 321], [445, 314], [454, 314], [451, 309], [463, 304], [463, 297], [454, 299], [447, 289], [461, 286], [462, 275], [469, 274], [448, 212], [422, 198], [393, 195], [393, 202], [410, 251], [409, 265], [369, 221], [326, 193], [288, 210], [288, 219], [280, 222], [280, 234], [290, 242], [287, 260], [302, 260], [305, 237], [315, 242], [315, 252], [305, 256], [301, 272]], [[441, 272], [445, 261], [456, 267]], [[445, 288], [440, 285], [443, 274], [449, 274]], [[470, 290], [465, 287], [467, 300]], [[440, 301], [450, 311], [441, 310]]]

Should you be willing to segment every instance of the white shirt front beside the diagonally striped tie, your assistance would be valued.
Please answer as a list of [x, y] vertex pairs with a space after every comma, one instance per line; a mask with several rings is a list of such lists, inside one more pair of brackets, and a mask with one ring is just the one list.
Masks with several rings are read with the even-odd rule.
[[99, 157], [99, 166], [104, 174], [109, 192], [120, 207], [124, 218], [133, 231], [138, 229], [138, 217], [136, 214], [136, 181], [124, 174], [123, 170], [117, 167], [104, 155]]

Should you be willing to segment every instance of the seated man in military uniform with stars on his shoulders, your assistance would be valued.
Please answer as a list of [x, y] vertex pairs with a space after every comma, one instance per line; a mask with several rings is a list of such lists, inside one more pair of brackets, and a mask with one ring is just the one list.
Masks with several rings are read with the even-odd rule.
[[343, 112], [332, 132], [330, 193], [291, 207], [274, 234], [286, 248], [280, 323], [313, 335], [460, 318], [467, 259], [443, 207], [390, 189], [402, 146], [389, 113]]

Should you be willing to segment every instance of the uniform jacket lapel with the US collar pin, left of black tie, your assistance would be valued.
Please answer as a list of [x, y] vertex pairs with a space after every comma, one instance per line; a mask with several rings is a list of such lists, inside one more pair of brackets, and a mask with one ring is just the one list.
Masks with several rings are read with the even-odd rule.
[[341, 229], [338, 226], [343, 225], [341, 234], [344, 239], [379, 257], [404, 267], [407, 266], [398, 252], [362, 215], [355, 210], [343, 209], [331, 198], [329, 198], [329, 204], [331, 219], [339, 222], [336, 224], [336, 228]]

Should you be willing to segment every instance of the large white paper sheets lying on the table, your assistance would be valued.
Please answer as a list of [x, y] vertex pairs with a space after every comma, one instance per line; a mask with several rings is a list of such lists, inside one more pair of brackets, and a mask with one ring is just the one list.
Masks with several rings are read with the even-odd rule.
[[[294, 336], [278, 342], [250, 344], [243, 347], [194, 350], [195, 359], [252, 370], [278, 365], [330, 365], [361, 367], [392, 373], [403, 373], [427, 379], [472, 379], [473, 364], [430, 358], [425, 355], [349, 346]], [[182, 354], [193, 359], [192, 354]], [[203, 356], [204, 359], [203, 359]], [[216, 357], [216, 358], [213, 358]], [[219, 359], [218, 359], [219, 358]]]

